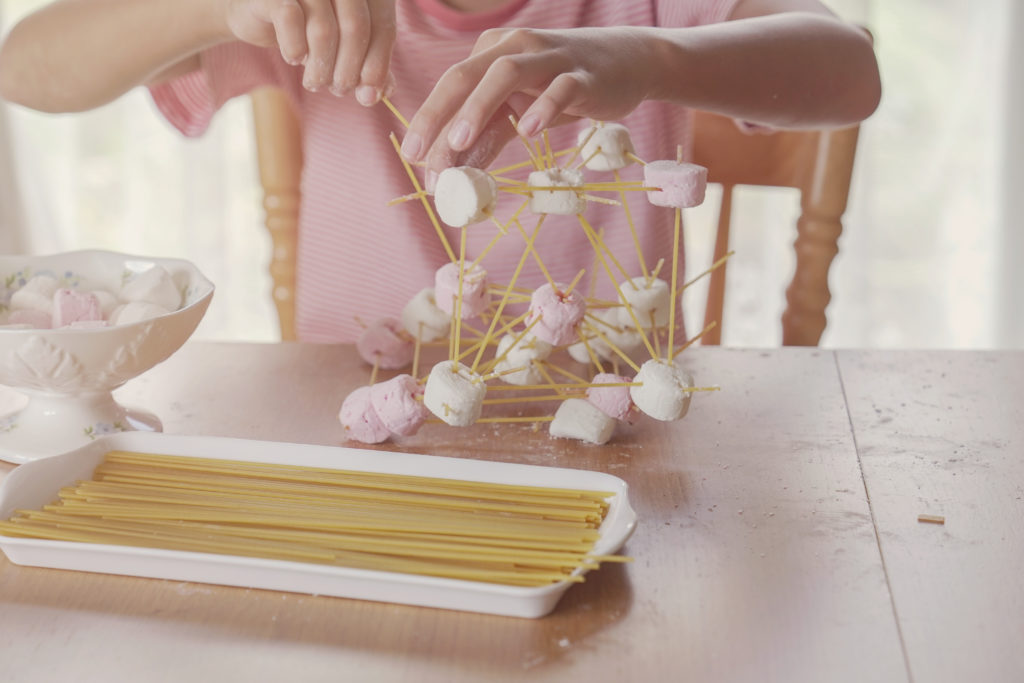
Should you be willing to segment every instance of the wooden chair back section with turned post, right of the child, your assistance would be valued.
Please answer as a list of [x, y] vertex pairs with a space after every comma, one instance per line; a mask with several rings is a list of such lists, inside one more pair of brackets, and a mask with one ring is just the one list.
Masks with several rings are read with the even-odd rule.
[[[732, 190], [736, 185], [770, 185], [800, 190], [797, 266], [785, 291], [782, 344], [817, 346], [825, 329], [828, 269], [839, 253], [857, 148], [859, 127], [823, 131], [748, 134], [731, 119], [698, 112], [693, 131], [693, 161], [708, 167], [709, 182], [722, 185], [715, 260], [729, 250]], [[719, 344], [725, 301], [725, 272], [711, 275], [705, 325], [718, 321], [701, 344]]]

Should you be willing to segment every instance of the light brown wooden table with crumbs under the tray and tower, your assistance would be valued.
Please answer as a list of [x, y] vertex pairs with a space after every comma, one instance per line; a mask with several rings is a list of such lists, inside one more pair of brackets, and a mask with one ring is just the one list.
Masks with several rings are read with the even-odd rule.
[[[605, 446], [524, 425], [386, 444], [629, 482], [636, 561], [591, 573], [550, 616], [3, 558], [0, 681], [1024, 680], [1024, 353], [687, 358], [723, 390]], [[367, 376], [350, 347], [195, 342], [119, 398], [171, 433], [334, 444]]]

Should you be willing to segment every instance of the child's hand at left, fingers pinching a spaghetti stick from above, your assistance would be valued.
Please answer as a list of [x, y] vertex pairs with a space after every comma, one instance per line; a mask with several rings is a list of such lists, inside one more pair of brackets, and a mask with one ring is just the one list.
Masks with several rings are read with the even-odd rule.
[[394, 0], [227, 0], [226, 8], [239, 40], [276, 45], [285, 61], [304, 65], [308, 90], [354, 89], [370, 105], [391, 86]]

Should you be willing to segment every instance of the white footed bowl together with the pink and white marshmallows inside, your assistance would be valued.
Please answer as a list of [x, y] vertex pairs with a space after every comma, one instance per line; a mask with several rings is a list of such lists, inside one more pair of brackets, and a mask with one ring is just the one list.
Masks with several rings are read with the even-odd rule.
[[0, 460], [159, 430], [111, 392], [195, 332], [213, 284], [188, 261], [79, 251], [0, 256]]

